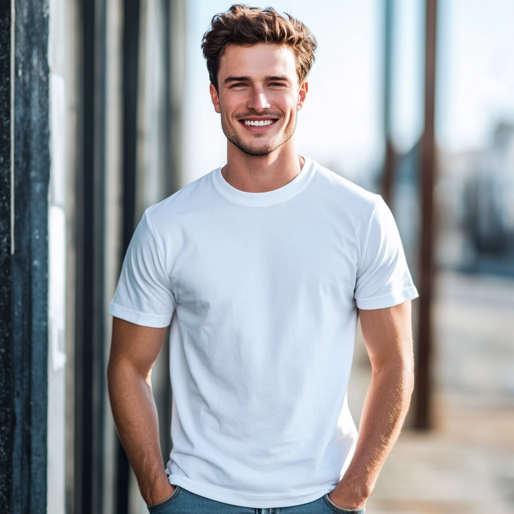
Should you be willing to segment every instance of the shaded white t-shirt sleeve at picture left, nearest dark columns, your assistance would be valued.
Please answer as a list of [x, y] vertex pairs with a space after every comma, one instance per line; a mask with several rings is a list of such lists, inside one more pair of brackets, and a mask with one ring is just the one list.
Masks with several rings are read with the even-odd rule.
[[162, 328], [170, 324], [174, 309], [170, 279], [144, 214], [128, 246], [109, 314]]

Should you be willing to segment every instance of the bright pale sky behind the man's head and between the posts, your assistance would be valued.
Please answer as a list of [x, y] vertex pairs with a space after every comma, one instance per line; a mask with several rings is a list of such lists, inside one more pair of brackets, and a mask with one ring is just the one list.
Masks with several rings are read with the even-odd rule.
[[[364, 186], [383, 153], [383, 4], [271, 2], [303, 21], [319, 44], [299, 114], [299, 152]], [[212, 15], [230, 5], [188, 2], [186, 183], [226, 162], [226, 139], [210, 103], [200, 42]], [[450, 151], [485, 146], [497, 121], [514, 120], [514, 2], [445, 0], [439, 6], [438, 141]], [[423, 128], [424, 2], [396, 0], [394, 20], [393, 138], [407, 151]]]

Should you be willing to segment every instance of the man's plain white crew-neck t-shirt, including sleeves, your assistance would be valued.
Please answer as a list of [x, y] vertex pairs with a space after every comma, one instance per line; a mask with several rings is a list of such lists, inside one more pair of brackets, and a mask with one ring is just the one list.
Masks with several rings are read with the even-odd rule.
[[380, 196], [307, 158], [274, 191], [217, 169], [146, 210], [109, 312], [171, 322], [170, 483], [252, 508], [331, 491], [357, 440], [357, 308], [416, 296]]

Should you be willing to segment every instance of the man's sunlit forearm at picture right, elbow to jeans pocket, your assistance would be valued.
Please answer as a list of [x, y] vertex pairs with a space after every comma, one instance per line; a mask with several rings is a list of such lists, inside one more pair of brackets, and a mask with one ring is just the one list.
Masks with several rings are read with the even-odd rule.
[[373, 492], [380, 469], [409, 410], [412, 367], [392, 362], [375, 371], [362, 410], [354, 457], [331, 499], [344, 508], [360, 508]]

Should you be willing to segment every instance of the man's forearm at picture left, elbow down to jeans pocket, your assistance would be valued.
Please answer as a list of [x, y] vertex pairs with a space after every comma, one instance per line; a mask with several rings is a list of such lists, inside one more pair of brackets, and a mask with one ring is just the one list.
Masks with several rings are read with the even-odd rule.
[[141, 495], [148, 505], [173, 492], [162, 464], [157, 410], [150, 375], [142, 376], [129, 362], [109, 362], [109, 398], [114, 422]]

